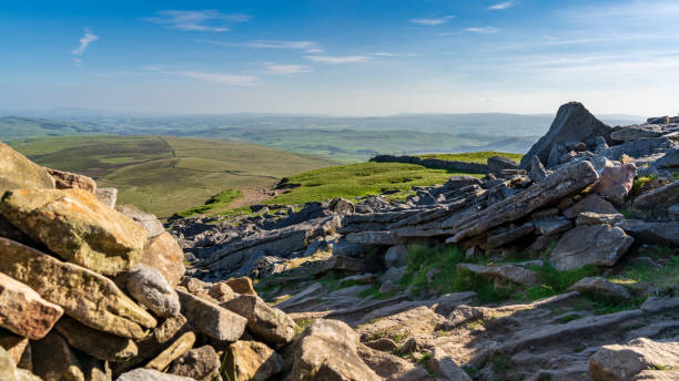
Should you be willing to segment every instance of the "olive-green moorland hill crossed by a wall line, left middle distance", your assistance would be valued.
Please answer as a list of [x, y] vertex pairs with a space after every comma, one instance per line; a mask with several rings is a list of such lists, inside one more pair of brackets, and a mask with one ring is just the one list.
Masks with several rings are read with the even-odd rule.
[[169, 136], [60, 136], [12, 141], [34, 162], [119, 188], [119, 202], [166, 218], [225, 189], [271, 188], [335, 164], [264, 146]]

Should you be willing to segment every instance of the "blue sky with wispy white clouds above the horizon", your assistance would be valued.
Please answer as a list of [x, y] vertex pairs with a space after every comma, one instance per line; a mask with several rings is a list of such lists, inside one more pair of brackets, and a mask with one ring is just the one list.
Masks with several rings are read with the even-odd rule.
[[3, 1], [0, 110], [679, 113], [678, 0]]

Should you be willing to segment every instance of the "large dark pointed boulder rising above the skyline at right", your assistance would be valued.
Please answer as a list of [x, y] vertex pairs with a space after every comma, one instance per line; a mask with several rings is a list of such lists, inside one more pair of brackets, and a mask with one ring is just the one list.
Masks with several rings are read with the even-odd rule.
[[551, 150], [569, 142], [589, 143], [589, 147], [594, 145], [591, 142], [596, 137], [604, 136], [610, 143], [610, 132], [611, 128], [596, 119], [581, 103], [566, 103], [557, 111], [547, 134], [524, 155], [519, 167], [528, 169], [534, 156], [537, 156], [541, 163], [549, 163]]

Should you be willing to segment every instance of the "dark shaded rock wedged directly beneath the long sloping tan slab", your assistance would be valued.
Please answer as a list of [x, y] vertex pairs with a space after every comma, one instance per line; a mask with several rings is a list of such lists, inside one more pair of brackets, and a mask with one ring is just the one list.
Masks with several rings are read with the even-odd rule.
[[123, 361], [138, 354], [134, 341], [98, 331], [64, 317], [54, 326], [68, 343], [89, 356], [107, 361]]

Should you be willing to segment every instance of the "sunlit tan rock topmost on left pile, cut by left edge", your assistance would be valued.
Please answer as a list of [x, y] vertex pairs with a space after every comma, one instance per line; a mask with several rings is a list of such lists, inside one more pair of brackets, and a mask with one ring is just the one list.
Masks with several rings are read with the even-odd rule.
[[8, 189], [53, 189], [47, 168], [0, 142], [0, 195]]

